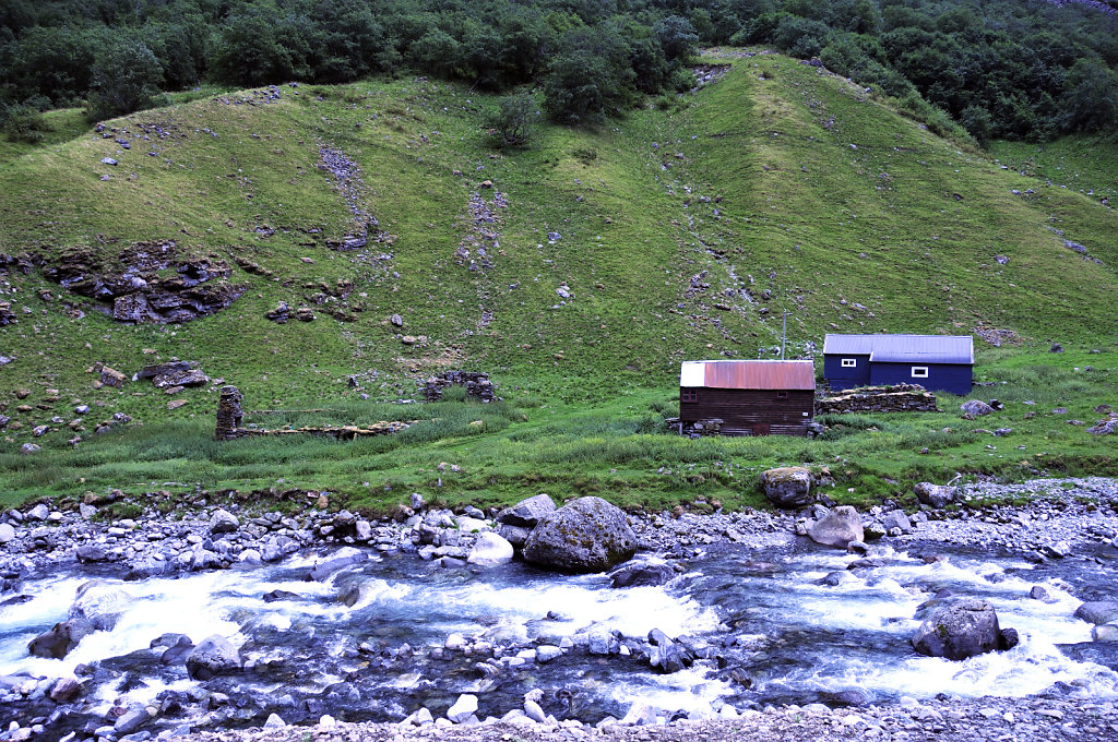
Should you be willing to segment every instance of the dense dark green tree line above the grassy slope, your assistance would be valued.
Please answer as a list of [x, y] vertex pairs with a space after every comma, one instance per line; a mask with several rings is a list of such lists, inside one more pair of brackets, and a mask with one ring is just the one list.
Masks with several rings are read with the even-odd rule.
[[818, 57], [979, 141], [1118, 120], [1118, 16], [1036, 0], [4, 0], [0, 118], [34, 137], [36, 111], [102, 118], [202, 82], [425, 74], [596, 122], [726, 44]]

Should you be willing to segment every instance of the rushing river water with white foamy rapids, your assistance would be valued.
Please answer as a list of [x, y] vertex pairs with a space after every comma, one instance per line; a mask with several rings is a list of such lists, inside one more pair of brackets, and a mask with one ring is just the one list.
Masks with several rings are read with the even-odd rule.
[[[131, 601], [112, 630], [87, 636], [63, 659], [30, 657], [27, 645], [66, 620], [89, 574], [32, 579], [23, 587], [29, 600], [0, 607], [0, 675], [55, 678], [88, 673], [82, 665], [94, 669], [74, 703], [3, 704], [0, 723], [47, 717], [61, 734], [103, 724], [114, 705], [136, 704], [164, 707], [148, 729], [259, 724], [272, 712], [292, 722], [323, 713], [396, 721], [420, 706], [444, 713], [462, 693], [479, 696], [484, 717], [520, 707], [533, 687], [544, 692], [547, 712], [591, 723], [624, 715], [635, 700], [695, 713], [723, 703], [889, 703], [940, 693], [1023, 696], [1054, 688], [1118, 696], [1114, 669], [1071, 659], [1058, 646], [1090, 641], [1090, 625], [1072, 613], [1083, 599], [1111, 593], [1118, 552], [1040, 565], [950, 548], [936, 553], [945, 559], [927, 563], [884, 549], [875, 554], [881, 567], [847, 570], [855, 556], [803, 542], [765, 553], [721, 545], [679, 560], [682, 572], [666, 586], [625, 589], [599, 574], [557, 575], [523, 563], [440, 568], [408, 554], [373, 555], [321, 582], [304, 578], [325, 553], [178, 579], [104, 578]], [[1050, 600], [1029, 598], [1033, 586]], [[917, 655], [909, 639], [921, 606], [945, 589], [989, 600], [1021, 644], [964, 662]], [[276, 590], [293, 594], [266, 601]], [[685, 636], [708, 658], [664, 675], [635, 654], [575, 650], [548, 664], [481, 653], [432, 656], [453, 634], [499, 647], [558, 645], [565, 637], [578, 644], [593, 626], [634, 649], [651, 629]], [[208, 684], [191, 681], [182, 664], [160, 662], [163, 649], [149, 649], [164, 634], [195, 643], [229, 637], [245, 669]], [[214, 701], [205, 691], [228, 698]]]

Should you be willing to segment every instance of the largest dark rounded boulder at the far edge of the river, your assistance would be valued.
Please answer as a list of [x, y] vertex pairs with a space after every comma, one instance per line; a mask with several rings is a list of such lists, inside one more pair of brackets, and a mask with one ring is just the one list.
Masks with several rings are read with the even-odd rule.
[[579, 497], [539, 522], [524, 559], [566, 572], [601, 572], [629, 559], [636, 543], [625, 513], [600, 497]]

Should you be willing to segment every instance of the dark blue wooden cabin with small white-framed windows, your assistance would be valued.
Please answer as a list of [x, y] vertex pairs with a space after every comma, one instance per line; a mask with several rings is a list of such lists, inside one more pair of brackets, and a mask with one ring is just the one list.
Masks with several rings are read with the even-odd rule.
[[970, 335], [827, 335], [823, 378], [835, 391], [920, 384], [929, 391], [970, 393], [975, 363]]

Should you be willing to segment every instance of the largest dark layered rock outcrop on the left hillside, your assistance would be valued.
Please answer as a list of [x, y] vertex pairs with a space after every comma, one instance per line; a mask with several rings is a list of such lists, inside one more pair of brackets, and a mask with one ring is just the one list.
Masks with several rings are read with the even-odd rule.
[[216, 256], [180, 256], [172, 240], [138, 242], [115, 258], [73, 249], [48, 256], [44, 275], [66, 291], [110, 305], [127, 323], [177, 323], [219, 312], [244, 293]]

